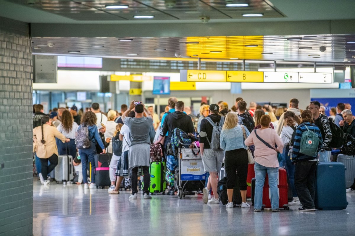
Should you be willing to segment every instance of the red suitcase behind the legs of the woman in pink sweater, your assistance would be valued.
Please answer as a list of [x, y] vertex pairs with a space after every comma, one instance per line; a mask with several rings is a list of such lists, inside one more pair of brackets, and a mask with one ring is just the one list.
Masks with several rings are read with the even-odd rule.
[[[284, 168], [279, 168], [278, 174], [278, 193], [279, 193], [279, 208], [284, 208], [285, 210], [289, 210], [288, 207], [288, 184], [287, 184], [287, 173]], [[270, 188], [269, 188], [269, 178], [266, 174], [265, 184], [263, 188], [263, 208], [271, 208], [271, 200], [270, 200]]]

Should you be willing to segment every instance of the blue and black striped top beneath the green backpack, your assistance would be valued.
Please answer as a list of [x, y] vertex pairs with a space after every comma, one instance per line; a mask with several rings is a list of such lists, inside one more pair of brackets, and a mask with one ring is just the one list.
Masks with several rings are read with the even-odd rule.
[[[306, 132], [307, 131], [307, 128], [306, 126], [308, 127], [309, 130], [313, 131], [314, 133], [316, 133], [319, 137], [319, 144], [318, 144], [318, 150], [323, 146], [322, 145], [322, 142], [323, 142], [323, 139], [322, 139], [322, 134], [321, 134], [321, 130], [317, 127], [317, 125], [315, 124], [311, 124], [309, 122], [305, 122], [305, 123], [302, 123], [300, 124], [297, 129], [296, 129], [296, 134], [295, 134], [295, 139], [294, 139], [294, 143], [293, 143], [293, 155], [292, 155], [292, 161], [310, 161], [310, 160], [315, 160], [315, 159], [318, 159], [318, 154], [315, 154], [314, 156], [306, 156], [305, 154], [302, 154], [300, 153], [300, 145], [301, 145], [301, 137], [302, 137], [302, 134], [303, 132]], [[317, 160], [315, 160], [317, 161]]]

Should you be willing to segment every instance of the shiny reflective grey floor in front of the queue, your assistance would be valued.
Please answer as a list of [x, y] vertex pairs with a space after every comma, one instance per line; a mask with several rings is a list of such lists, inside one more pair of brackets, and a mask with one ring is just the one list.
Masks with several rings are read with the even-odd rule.
[[203, 204], [201, 196], [153, 196], [129, 200], [129, 192], [34, 179], [33, 235], [355, 235], [355, 193], [342, 211], [253, 212]]

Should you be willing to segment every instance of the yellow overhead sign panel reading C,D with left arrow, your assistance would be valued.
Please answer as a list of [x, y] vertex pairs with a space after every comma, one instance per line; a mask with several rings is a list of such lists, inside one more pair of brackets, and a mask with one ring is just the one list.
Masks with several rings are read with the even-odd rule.
[[226, 72], [187, 70], [187, 82], [226, 82]]

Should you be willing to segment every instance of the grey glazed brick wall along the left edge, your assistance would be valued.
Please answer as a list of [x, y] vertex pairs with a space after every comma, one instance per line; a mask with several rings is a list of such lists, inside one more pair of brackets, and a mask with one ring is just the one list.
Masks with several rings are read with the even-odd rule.
[[32, 126], [29, 24], [0, 17], [0, 236], [32, 235]]

